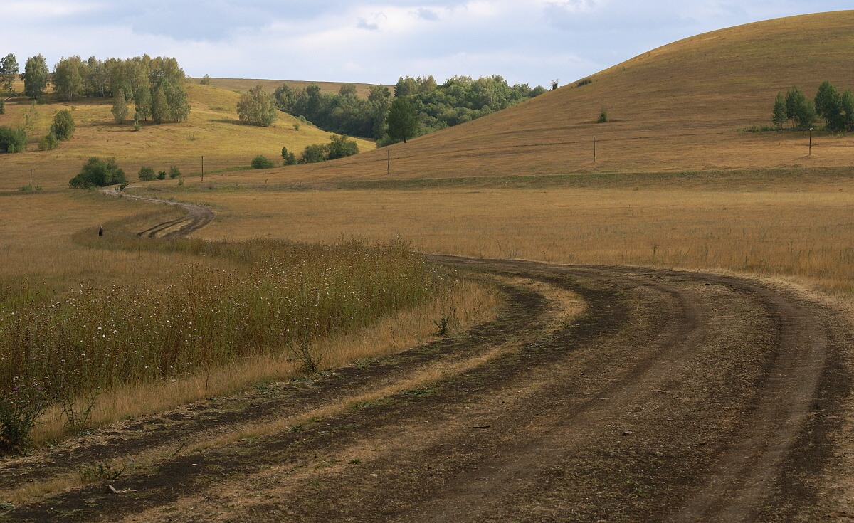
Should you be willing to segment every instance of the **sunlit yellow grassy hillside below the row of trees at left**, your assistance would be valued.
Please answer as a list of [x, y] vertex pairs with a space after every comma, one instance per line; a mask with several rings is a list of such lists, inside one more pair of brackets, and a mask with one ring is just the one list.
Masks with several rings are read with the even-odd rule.
[[[18, 85], [18, 91], [22, 85]], [[131, 180], [137, 179], [139, 167], [155, 170], [177, 165], [182, 173], [199, 173], [201, 156], [205, 171], [248, 166], [251, 159], [263, 154], [274, 162], [281, 161], [283, 146], [299, 153], [309, 144], [329, 141], [330, 133], [298, 122], [293, 116], [279, 113], [271, 127], [243, 125], [237, 119], [240, 95], [227, 89], [188, 83], [190, 118], [184, 123], [155, 126], [143, 122], [139, 132], [132, 124], [117, 125], [110, 113], [112, 99], [82, 98], [69, 103], [47, 103], [32, 106], [25, 97], [10, 98], [6, 114], [0, 115], [0, 126], [19, 126], [32, 110], [32, 131], [26, 152], [3, 154], [0, 191], [14, 191], [29, 181], [44, 189], [67, 187], [68, 179], [79, 172], [89, 156], [114, 156]], [[56, 150], [38, 150], [38, 138], [50, 128], [59, 109], [70, 109], [76, 123], [71, 140], [61, 142]], [[374, 144], [357, 140], [361, 150]]]

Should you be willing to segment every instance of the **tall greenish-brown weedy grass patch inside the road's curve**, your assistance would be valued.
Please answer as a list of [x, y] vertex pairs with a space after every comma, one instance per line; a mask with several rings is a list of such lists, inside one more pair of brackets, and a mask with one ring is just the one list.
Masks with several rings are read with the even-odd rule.
[[75, 413], [74, 398], [97, 391], [277, 352], [304, 356], [320, 339], [417, 307], [449, 285], [400, 241], [121, 242], [225, 257], [237, 268], [177, 267], [162, 285], [81, 286], [60, 300], [22, 284], [0, 306], [0, 401], [37, 390], [33, 408], [61, 402], [79, 415], [85, 405]]

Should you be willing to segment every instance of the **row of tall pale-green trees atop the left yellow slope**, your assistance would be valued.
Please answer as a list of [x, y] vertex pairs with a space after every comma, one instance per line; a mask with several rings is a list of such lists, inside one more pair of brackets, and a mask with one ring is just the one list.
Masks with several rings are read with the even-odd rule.
[[[15, 55], [0, 60], [0, 81], [10, 92], [18, 73]], [[105, 61], [95, 56], [86, 61], [79, 56], [63, 57], [51, 73], [44, 56], [37, 55], [26, 59], [21, 78], [24, 94], [36, 99], [42, 99], [52, 84], [56, 95], [67, 101], [75, 97], [121, 97], [125, 103], [134, 104], [137, 120], [151, 118], [162, 123], [183, 121], [190, 115], [184, 91], [186, 75], [172, 57], [143, 55]]]

